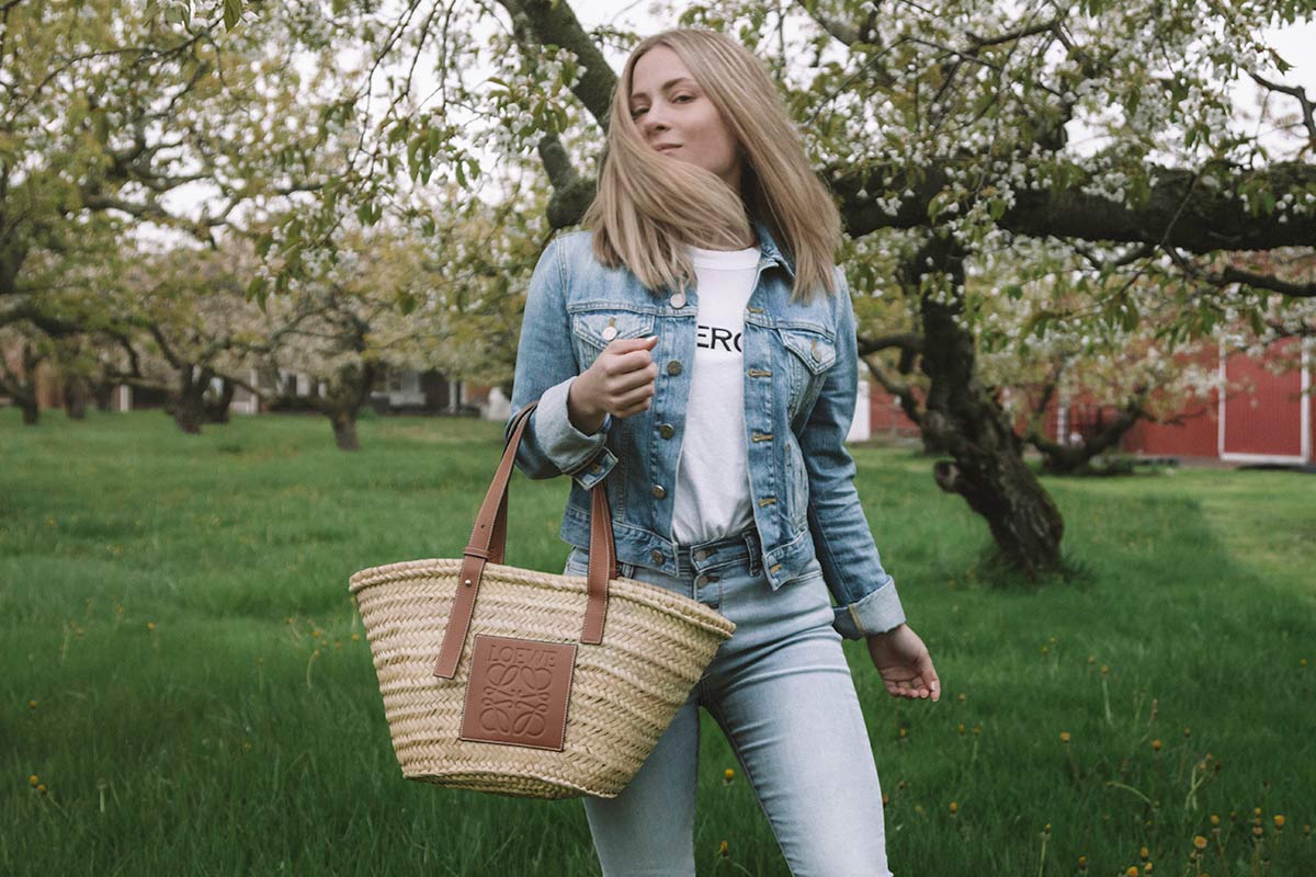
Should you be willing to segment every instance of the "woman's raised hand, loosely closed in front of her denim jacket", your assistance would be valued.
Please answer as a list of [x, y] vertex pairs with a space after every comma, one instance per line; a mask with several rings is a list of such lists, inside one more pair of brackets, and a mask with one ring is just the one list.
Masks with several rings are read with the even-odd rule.
[[[596, 433], [605, 414], [629, 417], [649, 408], [658, 364], [649, 352], [658, 335], [617, 338], [603, 348], [567, 393], [567, 414], [582, 433]], [[584, 429], [592, 426], [592, 429]]]

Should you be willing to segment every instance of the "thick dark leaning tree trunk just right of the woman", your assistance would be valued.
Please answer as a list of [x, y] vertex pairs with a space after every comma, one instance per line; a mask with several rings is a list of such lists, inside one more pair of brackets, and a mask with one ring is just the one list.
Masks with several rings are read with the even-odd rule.
[[[930, 259], [930, 264], [928, 263]], [[945, 275], [949, 288], [925, 288]], [[923, 369], [930, 379], [923, 431], [954, 462], [933, 468], [937, 485], [965, 497], [987, 519], [1001, 560], [1030, 581], [1061, 569], [1065, 521], [1024, 463], [1023, 440], [974, 369], [974, 339], [955, 318], [963, 310], [963, 254], [929, 239], [905, 266], [903, 283], [919, 296], [926, 344]]]

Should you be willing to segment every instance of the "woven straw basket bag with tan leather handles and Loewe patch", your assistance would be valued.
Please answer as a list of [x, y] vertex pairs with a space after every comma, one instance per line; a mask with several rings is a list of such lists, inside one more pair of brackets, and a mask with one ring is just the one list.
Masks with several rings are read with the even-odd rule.
[[590, 571], [503, 564], [507, 488], [530, 402], [463, 556], [362, 569], [393, 752], [408, 780], [529, 798], [616, 797], [736, 626], [617, 577], [608, 494], [591, 489]]

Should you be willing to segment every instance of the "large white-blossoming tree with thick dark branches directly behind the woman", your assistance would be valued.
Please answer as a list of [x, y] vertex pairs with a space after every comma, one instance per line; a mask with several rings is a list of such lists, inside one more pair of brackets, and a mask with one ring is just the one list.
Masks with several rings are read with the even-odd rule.
[[[569, 226], [592, 197], [578, 168], [599, 159], [616, 87], [601, 47], [634, 36], [587, 30], [566, 0], [500, 7], [453, 8], [442, 30], [429, 26], [433, 16], [416, 24], [424, 4], [393, 22], [387, 46], [405, 42], [418, 58], [436, 41], [441, 103], [380, 118], [371, 155], [422, 179], [437, 162], [440, 179], [467, 187], [474, 143], [503, 156], [533, 147], [551, 187], [549, 222]], [[688, 7], [679, 21], [733, 33], [769, 63], [851, 245], [888, 256], [848, 258], [846, 267], [851, 289], [882, 293], [908, 322], [886, 341], [926, 379], [920, 425], [949, 456], [934, 465], [937, 484], [983, 514], [1004, 559], [1036, 577], [1062, 565], [1063, 522], [979, 373], [984, 291], [971, 280], [995, 251], [1044, 241], [1050, 254], [1020, 266], [1015, 283], [1046, 281], [1082, 258], [1071, 285], [1083, 302], [1038, 312], [1023, 337], [1062, 321], [1132, 330], [1152, 284], [1182, 304], [1163, 334], [1171, 346], [1221, 331], [1230, 312], [1263, 312], [1271, 292], [1316, 296], [1316, 283], [1249, 260], [1316, 239], [1313, 104], [1283, 82], [1288, 64], [1262, 37], [1312, 14], [1302, 0], [808, 0], [775, 9], [732, 0]], [[466, 39], [482, 22], [496, 29]], [[386, 58], [380, 46], [368, 54]], [[483, 91], [466, 80], [475, 59], [494, 72]], [[1240, 76], [1266, 95], [1262, 120], [1277, 121], [1277, 107], [1294, 110], [1278, 120], [1287, 139], [1263, 138], [1233, 105], [1228, 89]], [[409, 76], [395, 79], [391, 105], [411, 88]], [[1096, 149], [1070, 142], [1080, 129], [1101, 141]], [[380, 192], [357, 192], [367, 217]]]

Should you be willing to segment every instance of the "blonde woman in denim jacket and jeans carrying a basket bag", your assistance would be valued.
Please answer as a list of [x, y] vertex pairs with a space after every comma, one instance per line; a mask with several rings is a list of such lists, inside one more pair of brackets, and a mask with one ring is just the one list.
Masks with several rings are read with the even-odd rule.
[[940, 684], [845, 448], [858, 364], [837, 209], [771, 79], [717, 33], [636, 46], [609, 129], [591, 230], [554, 239], [530, 281], [513, 421], [540, 405], [517, 465], [572, 477], [566, 573], [588, 569], [604, 481], [620, 575], [737, 628], [626, 789], [584, 798], [603, 872], [695, 873], [703, 706], [795, 874], [890, 874], [841, 640], [866, 640], [895, 697]]

